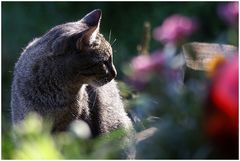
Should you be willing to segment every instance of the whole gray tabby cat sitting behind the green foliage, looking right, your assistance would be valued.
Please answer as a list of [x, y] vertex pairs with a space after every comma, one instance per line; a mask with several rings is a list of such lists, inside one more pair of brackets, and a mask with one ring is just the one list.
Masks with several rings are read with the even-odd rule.
[[66, 130], [76, 119], [86, 121], [93, 136], [132, 129], [113, 80], [112, 48], [99, 33], [100, 20], [101, 10], [94, 10], [26, 47], [14, 70], [14, 124], [34, 111], [53, 121], [53, 132]]

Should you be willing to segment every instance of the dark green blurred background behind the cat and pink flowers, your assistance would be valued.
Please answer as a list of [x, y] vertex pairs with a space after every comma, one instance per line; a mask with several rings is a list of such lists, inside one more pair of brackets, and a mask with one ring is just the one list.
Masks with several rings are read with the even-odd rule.
[[[238, 30], [229, 27], [219, 15], [219, 6], [224, 4], [224, 2], [2, 2], [2, 133], [8, 133], [11, 126], [10, 90], [14, 63], [31, 40], [40, 37], [52, 27], [77, 21], [93, 9], [101, 9], [103, 13], [101, 32], [106, 39], [111, 35], [111, 42], [115, 41], [114, 64], [118, 71], [117, 79], [123, 81], [126, 77], [125, 65], [139, 53], [137, 46], [143, 40], [143, 25], [146, 21], [154, 30], [167, 17], [180, 14], [198, 22], [198, 30], [188, 38], [188, 42], [215, 42], [237, 46]], [[164, 43], [151, 39], [149, 50], [155, 51], [163, 46]], [[5, 135], [2, 137], [4, 140]]]

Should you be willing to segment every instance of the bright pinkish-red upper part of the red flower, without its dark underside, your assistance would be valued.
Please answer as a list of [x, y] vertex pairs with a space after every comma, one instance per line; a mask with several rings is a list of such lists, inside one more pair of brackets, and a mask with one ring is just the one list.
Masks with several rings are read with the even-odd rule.
[[231, 119], [238, 118], [238, 58], [227, 60], [213, 80], [211, 97], [216, 107]]

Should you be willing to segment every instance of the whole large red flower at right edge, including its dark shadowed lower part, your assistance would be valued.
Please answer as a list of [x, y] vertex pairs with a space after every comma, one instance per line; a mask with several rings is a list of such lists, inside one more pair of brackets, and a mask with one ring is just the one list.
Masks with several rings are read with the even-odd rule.
[[238, 56], [224, 60], [210, 86], [204, 126], [218, 151], [238, 155]]

